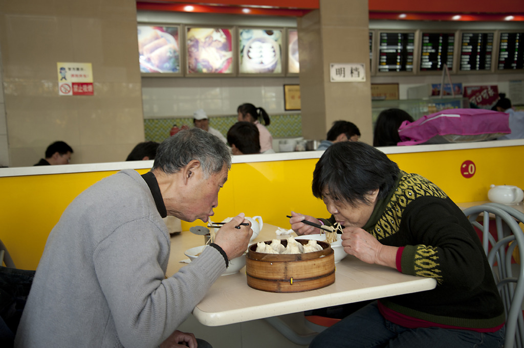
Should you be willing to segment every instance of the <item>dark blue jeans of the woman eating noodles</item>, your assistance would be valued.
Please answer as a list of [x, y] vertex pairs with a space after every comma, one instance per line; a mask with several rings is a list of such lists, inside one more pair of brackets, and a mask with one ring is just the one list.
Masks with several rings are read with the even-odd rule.
[[409, 329], [384, 319], [375, 301], [319, 333], [309, 348], [499, 348], [504, 332], [504, 327], [497, 332]]

